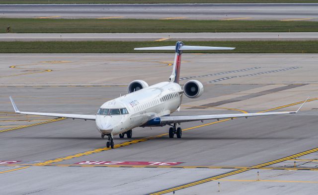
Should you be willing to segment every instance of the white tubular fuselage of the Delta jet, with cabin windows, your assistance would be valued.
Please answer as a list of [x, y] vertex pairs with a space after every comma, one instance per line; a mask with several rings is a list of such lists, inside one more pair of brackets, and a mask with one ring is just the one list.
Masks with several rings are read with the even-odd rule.
[[[105, 102], [100, 109], [126, 108], [126, 114], [97, 114], [96, 127], [103, 134], [117, 135], [135, 127], [145, 126], [151, 119], [169, 115], [178, 109], [182, 89], [173, 82], [161, 82], [142, 90]], [[125, 113], [125, 111], [124, 111]], [[151, 126], [151, 125], [150, 125]]]

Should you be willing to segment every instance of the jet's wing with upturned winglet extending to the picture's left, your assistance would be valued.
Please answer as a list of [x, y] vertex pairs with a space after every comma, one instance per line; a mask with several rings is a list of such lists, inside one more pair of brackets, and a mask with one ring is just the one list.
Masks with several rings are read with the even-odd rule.
[[65, 118], [78, 118], [84, 120], [95, 120], [96, 115], [82, 115], [82, 114], [60, 114], [60, 113], [43, 113], [43, 112], [21, 112], [16, 107], [13, 99], [9, 97], [14, 108], [15, 113], [18, 114], [32, 114], [32, 115], [40, 115], [40, 116], [56, 116], [56, 117], [65, 117]]

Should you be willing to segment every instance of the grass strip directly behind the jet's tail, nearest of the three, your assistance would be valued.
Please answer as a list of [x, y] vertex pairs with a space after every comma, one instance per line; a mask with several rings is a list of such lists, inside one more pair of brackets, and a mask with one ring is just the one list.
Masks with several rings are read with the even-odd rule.
[[[186, 41], [186, 45], [236, 47], [235, 50], [191, 51], [190, 53], [318, 53], [318, 41]], [[135, 41], [48, 41], [0, 42], [0, 53], [171, 53], [135, 51], [135, 47], [174, 45], [167, 42]], [[185, 53], [188, 53], [185, 51]]]

